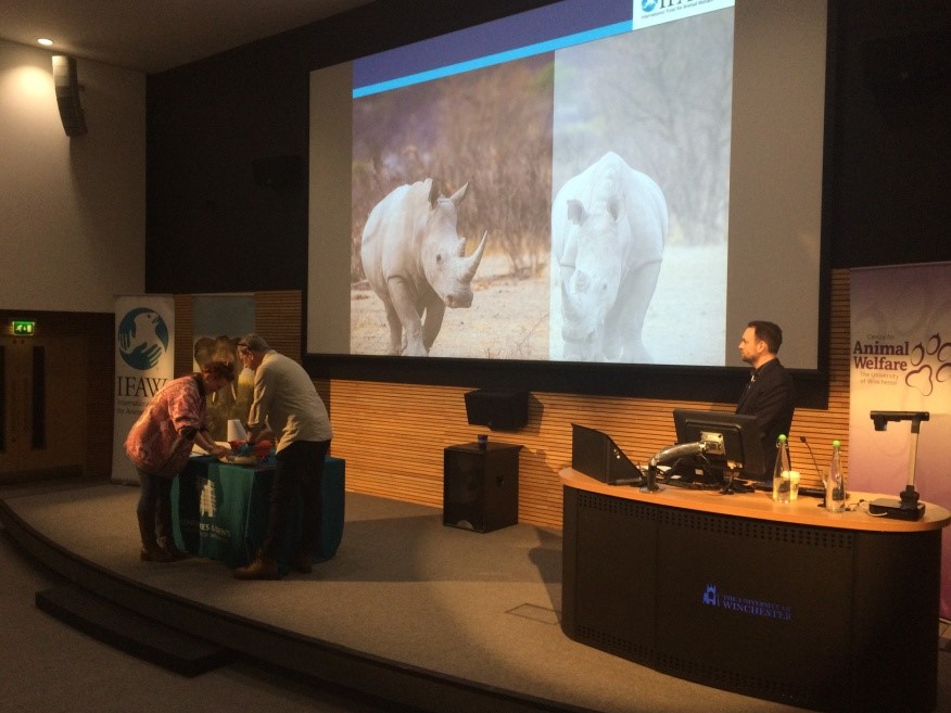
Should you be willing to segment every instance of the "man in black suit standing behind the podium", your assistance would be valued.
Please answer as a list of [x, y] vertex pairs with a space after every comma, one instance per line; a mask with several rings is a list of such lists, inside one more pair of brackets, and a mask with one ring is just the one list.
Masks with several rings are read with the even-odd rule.
[[776, 462], [776, 441], [781, 434], [789, 437], [796, 402], [792, 377], [776, 356], [782, 344], [783, 330], [763, 320], [749, 322], [739, 340], [739, 357], [752, 372], [736, 412], [757, 417], [768, 475]]

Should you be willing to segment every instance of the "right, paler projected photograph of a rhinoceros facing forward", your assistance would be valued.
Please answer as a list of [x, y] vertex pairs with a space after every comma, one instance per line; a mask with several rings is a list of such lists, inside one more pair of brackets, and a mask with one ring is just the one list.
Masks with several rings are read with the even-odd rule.
[[556, 52], [551, 359], [724, 364], [732, 38], [728, 9]]

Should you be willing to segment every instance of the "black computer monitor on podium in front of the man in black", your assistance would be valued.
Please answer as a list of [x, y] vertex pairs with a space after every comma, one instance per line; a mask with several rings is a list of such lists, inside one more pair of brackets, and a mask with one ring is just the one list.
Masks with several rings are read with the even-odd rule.
[[765, 481], [766, 473], [760, 426], [755, 416], [727, 411], [674, 409], [677, 443], [706, 444], [701, 456], [720, 474], [733, 471], [746, 480]]

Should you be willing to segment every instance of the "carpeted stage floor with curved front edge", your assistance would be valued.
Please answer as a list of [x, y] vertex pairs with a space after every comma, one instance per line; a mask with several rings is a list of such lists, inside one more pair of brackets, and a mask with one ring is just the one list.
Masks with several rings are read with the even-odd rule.
[[[329, 646], [456, 687], [500, 692], [527, 710], [801, 710], [681, 680], [569, 639], [558, 619], [561, 534], [555, 530], [519, 524], [480, 534], [444, 526], [436, 508], [347, 493], [332, 560], [309, 575], [240, 582], [215, 560], [141, 562], [138, 494], [138, 487], [102, 484], [7, 497], [3, 507], [55, 547], [169, 600], [286, 633], [297, 647]], [[267, 651], [257, 653], [269, 661]], [[946, 655], [939, 658], [938, 710], [944, 711], [951, 673]]]

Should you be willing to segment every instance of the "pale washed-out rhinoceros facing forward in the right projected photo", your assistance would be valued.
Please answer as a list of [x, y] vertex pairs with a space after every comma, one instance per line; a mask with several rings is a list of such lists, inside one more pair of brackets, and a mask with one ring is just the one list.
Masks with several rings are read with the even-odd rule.
[[565, 183], [551, 204], [553, 356], [650, 361], [642, 330], [667, 228], [660, 188], [616, 153]]

